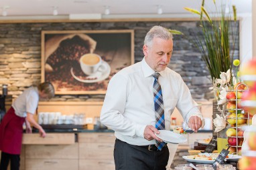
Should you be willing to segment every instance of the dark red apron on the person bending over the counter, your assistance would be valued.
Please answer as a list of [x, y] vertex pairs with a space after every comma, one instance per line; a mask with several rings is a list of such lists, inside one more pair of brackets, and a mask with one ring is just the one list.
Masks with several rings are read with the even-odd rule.
[[0, 124], [0, 150], [19, 155], [23, 135], [23, 123], [25, 117], [15, 115], [13, 107], [7, 111]]

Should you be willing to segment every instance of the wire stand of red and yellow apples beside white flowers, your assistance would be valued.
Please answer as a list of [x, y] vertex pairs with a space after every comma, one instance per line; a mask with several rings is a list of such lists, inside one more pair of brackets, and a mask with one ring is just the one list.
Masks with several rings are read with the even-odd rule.
[[227, 99], [227, 146], [230, 153], [237, 155], [241, 155], [244, 140], [242, 127], [249, 125], [249, 113], [241, 106], [241, 94], [244, 91], [248, 91], [245, 83], [237, 83], [233, 90], [227, 91], [229, 95], [233, 95], [232, 99]]

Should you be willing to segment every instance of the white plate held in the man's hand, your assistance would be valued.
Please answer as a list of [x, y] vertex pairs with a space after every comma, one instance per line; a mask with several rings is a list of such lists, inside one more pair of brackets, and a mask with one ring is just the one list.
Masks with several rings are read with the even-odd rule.
[[186, 143], [188, 139], [184, 135], [174, 133], [173, 131], [159, 130], [159, 134], [155, 134], [157, 137], [167, 143]]

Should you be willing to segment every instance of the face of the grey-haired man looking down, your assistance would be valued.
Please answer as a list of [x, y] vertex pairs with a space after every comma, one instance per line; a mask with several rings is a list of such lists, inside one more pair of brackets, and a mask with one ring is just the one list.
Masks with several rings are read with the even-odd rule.
[[173, 41], [172, 39], [153, 38], [151, 47], [143, 45], [145, 61], [154, 71], [163, 71], [170, 63], [172, 57]]

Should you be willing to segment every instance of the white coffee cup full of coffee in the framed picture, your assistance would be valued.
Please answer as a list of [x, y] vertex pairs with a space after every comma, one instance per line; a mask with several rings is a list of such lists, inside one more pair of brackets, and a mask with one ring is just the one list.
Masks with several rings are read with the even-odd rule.
[[99, 67], [102, 65], [101, 56], [95, 53], [87, 53], [80, 57], [80, 66], [84, 74], [92, 75], [98, 71]]

